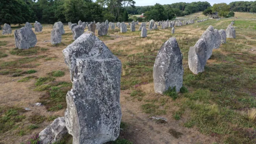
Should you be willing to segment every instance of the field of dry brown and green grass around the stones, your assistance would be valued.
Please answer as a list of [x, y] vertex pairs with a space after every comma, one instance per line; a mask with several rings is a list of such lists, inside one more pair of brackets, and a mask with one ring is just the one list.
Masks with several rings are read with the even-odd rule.
[[[240, 15], [254, 17], [236, 13]], [[237, 38], [227, 39], [213, 51], [205, 72], [194, 75], [187, 64], [189, 47], [208, 26], [226, 29], [230, 22], [207, 20], [175, 27], [175, 34], [170, 28], [153, 30], [146, 38], [139, 37], [139, 31], [119, 33], [116, 28], [99, 37], [122, 62], [123, 130], [119, 139], [110, 143], [256, 142], [256, 21], [235, 20]], [[52, 25], [44, 25], [43, 32], [36, 33], [35, 48], [29, 50], [16, 49], [13, 34], [0, 35], [0, 144], [33, 142], [32, 136], [64, 115], [65, 95], [72, 84], [61, 51], [73, 42], [68, 26], [64, 28], [62, 43], [52, 45]], [[184, 90], [167, 96], [154, 93], [152, 74], [156, 54], [170, 37], [176, 37], [183, 54]], [[36, 102], [43, 106], [36, 106]], [[27, 107], [31, 110], [25, 111]], [[168, 123], [151, 116], [167, 118]], [[59, 142], [66, 143], [72, 143], [70, 135]]]

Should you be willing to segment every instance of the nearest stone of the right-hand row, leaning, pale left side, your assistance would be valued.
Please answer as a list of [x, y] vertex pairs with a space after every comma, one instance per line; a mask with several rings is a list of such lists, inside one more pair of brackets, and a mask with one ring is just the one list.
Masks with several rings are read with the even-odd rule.
[[191, 72], [198, 74], [204, 72], [207, 61], [207, 47], [204, 39], [199, 39], [195, 46], [191, 46], [188, 52], [188, 65]]

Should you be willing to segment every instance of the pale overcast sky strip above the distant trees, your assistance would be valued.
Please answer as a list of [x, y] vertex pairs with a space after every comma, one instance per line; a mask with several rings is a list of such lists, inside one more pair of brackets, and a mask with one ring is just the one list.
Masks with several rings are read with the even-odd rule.
[[[235, 1], [243, 1], [243, 0], [134, 0], [136, 2], [135, 6], [153, 6], [156, 3], [158, 4], [173, 4], [176, 2], [209, 2], [211, 6], [215, 3], [221, 3], [225, 2], [226, 4], [229, 4], [230, 2], [235, 2]], [[250, 0], [248, 0], [250, 1]]]

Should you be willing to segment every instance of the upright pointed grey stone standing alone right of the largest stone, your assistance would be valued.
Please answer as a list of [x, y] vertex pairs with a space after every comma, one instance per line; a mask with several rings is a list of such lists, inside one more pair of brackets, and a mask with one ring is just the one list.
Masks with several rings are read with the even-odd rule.
[[160, 48], [153, 68], [154, 90], [163, 94], [169, 87], [180, 91], [183, 81], [182, 53], [176, 41], [171, 37]]

